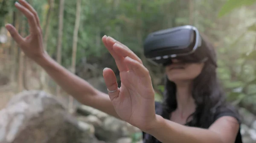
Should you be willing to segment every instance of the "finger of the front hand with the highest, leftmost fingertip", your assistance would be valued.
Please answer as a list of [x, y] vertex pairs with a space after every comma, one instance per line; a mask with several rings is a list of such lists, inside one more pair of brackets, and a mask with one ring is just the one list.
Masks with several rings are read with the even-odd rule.
[[[108, 43], [107, 42], [107, 39], [111, 39], [113, 40], [113, 42], [111, 43]], [[115, 39], [109, 37], [109, 36], [103, 36], [102, 37], [102, 42], [103, 44], [105, 45], [105, 47], [108, 49], [109, 53], [111, 54], [111, 56], [115, 59], [115, 62], [116, 62], [116, 66], [119, 70], [119, 72], [122, 72], [122, 71], [127, 71], [128, 70], [128, 67], [125, 65], [124, 63], [124, 57], [123, 56], [120, 56], [118, 55], [114, 50], [113, 50], [113, 44], [114, 44], [114, 41]]]

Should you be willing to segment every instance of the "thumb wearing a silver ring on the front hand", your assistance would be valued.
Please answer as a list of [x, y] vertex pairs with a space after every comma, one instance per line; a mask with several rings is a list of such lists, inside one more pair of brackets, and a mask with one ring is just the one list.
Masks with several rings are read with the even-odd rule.
[[115, 73], [110, 68], [105, 68], [103, 70], [103, 77], [108, 88], [109, 98], [111, 101], [114, 101], [116, 98], [118, 98], [119, 95], [119, 88], [116, 82]]

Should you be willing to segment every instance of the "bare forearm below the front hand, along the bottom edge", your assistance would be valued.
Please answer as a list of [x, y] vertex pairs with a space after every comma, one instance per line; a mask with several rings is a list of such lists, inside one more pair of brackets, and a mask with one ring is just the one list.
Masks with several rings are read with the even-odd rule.
[[146, 132], [162, 143], [223, 143], [216, 132], [183, 126], [159, 115], [157, 115], [156, 126]]

